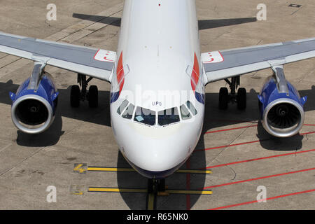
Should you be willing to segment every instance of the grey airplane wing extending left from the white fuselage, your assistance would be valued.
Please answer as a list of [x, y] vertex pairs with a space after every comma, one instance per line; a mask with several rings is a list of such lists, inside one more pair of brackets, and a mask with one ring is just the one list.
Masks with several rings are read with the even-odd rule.
[[116, 52], [0, 32], [0, 52], [111, 82]]

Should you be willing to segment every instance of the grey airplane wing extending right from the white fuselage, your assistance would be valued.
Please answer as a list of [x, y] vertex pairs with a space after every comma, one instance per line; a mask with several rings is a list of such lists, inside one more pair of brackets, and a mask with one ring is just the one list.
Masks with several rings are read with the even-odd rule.
[[207, 84], [311, 57], [315, 57], [315, 38], [206, 52], [202, 63]]

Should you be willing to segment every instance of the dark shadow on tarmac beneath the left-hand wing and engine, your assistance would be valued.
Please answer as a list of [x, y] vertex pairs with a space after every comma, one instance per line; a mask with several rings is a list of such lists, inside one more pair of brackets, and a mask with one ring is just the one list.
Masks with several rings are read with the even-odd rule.
[[[13, 84], [12, 80], [7, 83], [0, 83], [0, 103], [12, 104], [8, 92], [16, 92], [19, 85]], [[90, 109], [87, 102], [80, 104], [79, 108], [70, 106], [70, 89], [59, 89], [58, 106], [55, 112], [55, 120], [52, 125], [40, 134], [25, 134], [18, 130], [17, 144], [20, 146], [53, 146], [64, 134], [62, 131], [62, 117], [82, 120], [98, 125], [111, 126], [109, 115], [109, 91], [99, 91], [99, 107]]]

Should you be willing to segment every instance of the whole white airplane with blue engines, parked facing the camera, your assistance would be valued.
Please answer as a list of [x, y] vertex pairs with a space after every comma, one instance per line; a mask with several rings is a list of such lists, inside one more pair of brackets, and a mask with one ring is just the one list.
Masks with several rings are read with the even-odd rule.
[[245, 109], [239, 76], [272, 68], [258, 95], [263, 127], [275, 137], [297, 134], [307, 97], [286, 80], [283, 64], [315, 57], [315, 38], [201, 53], [195, 0], [125, 0], [117, 52], [4, 33], [0, 52], [34, 61], [30, 78], [10, 92], [13, 123], [29, 134], [47, 130], [55, 115], [58, 92], [45, 65], [78, 73], [81, 89], [71, 87], [74, 107], [84, 99], [98, 105], [97, 87], [87, 91], [91, 78], [111, 83], [111, 126], [119, 150], [151, 180], [152, 191], [193, 153], [208, 83], [230, 84], [230, 93], [220, 90], [219, 109], [231, 101]]

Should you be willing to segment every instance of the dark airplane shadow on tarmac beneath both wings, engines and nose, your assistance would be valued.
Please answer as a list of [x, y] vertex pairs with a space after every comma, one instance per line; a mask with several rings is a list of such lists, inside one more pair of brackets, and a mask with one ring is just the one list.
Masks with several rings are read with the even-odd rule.
[[[11, 104], [8, 92], [16, 92], [18, 85], [13, 84], [12, 80], [7, 83], [0, 83], [0, 103]], [[111, 126], [109, 115], [109, 92], [99, 91], [99, 107], [97, 109], [89, 109], [87, 103], [81, 104], [78, 109], [71, 108], [69, 104], [70, 90], [60, 89], [58, 109], [56, 111], [55, 121], [52, 126], [41, 134], [25, 134], [18, 131], [17, 144], [21, 146], [52, 146], [57, 144], [59, 138], [64, 134], [62, 131], [62, 117], [82, 120], [98, 125]], [[315, 104], [310, 99], [315, 99], [315, 86], [311, 90], [300, 90], [300, 95], [307, 95], [309, 102], [304, 105], [305, 111], [314, 111]], [[295, 151], [302, 148], [303, 136], [299, 134], [286, 139], [277, 139], [265, 132], [262, 125], [258, 122], [258, 92], [250, 90], [247, 93], [247, 109], [246, 111], [237, 110], [236, 104], [229, 104], [226, 111], [218, 110], [218, 93], [206, 94], [206, 109], [204, 126], [202, 133], [205, 133], [216, 127], [224, 127], [239, 123], [248, 123], [248, 125], [257, 124], [257, 138], [260, 140], [262, 148], [273, 151]], [[220, 134], [220, 132], [216, 133]], [[196, 149], [204, 149], [204, 134], [200, 137]], [[118, 151], [117, 167], [130, 167], [125, 161], [123, 155]], [[199, 151], [190, 157], [190, 169], [200, 169], [207, 167], [205, 151]], [[186, 164], [181, 169], [186, 169]], [[191, 190], [204, 187], [204, 174], [191, 174]], [[146, 188], [147, 180], [136, 172], [117, 172], [119, 188]], [[188, 186], [186, 174], [173, 174], [166, 179], [167, 186], [170, 189], [185, 190]], [[194, 188], [193, 188], [194, 186]], [[120, 193], [130, 209], [146, 209], [146, 204], [139, 203], [139, 200], [145, 200], [146, 195], [134, 193]], [[138, 196], [135, 196], [138, 195]], [[190, 196], [190, 207], [197, 202], [200, 195]], [[211, 196], [209, 196], [211, 197]], [[157, 209], [187, 209], [186, 197], [183, 195], [170, 195], [169, 197], [158, 197]]]

